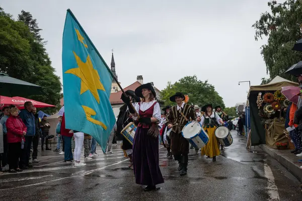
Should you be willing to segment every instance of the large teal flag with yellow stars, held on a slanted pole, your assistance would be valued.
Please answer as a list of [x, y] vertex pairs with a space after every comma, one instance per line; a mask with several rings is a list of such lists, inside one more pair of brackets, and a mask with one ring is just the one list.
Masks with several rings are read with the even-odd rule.
[[63, 32], [62, 69], [66, 129], [91, 135], [105, 152], [115, 124], [109, 101], [112, 73], [69, 9]]

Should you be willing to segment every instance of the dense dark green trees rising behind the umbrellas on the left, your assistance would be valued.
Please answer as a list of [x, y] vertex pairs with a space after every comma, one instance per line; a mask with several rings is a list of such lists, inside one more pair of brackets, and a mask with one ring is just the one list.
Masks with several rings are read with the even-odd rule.
[[[11, 77], [38, 84], [43, 95], [28, 98], [59, 106], [61, 83], [51, 66], [36, 19], [22, 11], [18, 21], [0, 7], [0, 71]], [[57, 108], [43, 110], [55, 113]]]

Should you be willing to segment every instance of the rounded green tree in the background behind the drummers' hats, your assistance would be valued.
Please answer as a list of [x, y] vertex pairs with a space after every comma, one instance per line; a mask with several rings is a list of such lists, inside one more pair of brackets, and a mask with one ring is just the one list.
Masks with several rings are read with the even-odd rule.
[[200, 81], [197, 76], [185, 76], [171, 84], [168, 82], [167, 87], [162, 90], [161, 98], [166, 105], [174, 105], [170, 102], [170, 96], [176, 92], [183, 92], [189, 96], [189, 104], [198, 105], [202, 107], [206, 104], [213, 104], [213, 106], [220, 105], [224, 108], [222, 97], [215, 91], [215, 87], [208, 83], [208, 81]]

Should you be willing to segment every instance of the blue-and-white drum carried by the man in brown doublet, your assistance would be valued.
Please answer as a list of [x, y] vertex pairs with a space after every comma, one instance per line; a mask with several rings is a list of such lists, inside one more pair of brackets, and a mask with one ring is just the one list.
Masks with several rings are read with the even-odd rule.
[[203, 128], [199, 122], [187, 123], [186, 126], [183, 128], [181, 134], [195, 148], [202, 148], [209, 141], [209, 136], [203, 130]]

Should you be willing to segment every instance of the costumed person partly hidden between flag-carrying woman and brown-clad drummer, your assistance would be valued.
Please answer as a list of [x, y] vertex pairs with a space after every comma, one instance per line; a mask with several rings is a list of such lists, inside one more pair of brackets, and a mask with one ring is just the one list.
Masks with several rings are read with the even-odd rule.
[[161, 134], [163, 145], [164, 145], [164, 147], [168, 151], [167, 157], [172, 158], [172, 153], [171, 153], [171, 149], [170, 149], [170, 142], [171, 142], [170, 138], [166, 137], [165, 140], [164, 140], [164, 135], [165, 135], [165, 133], [167, 135], [167, 130], [168, 130], [168, 127], [167, 127], [167, 115], [169, 114], [170, 109], [171, 109], [171, 106], [166, 106], [165, 108], [162, 109], [162, 111], [164, 111], [164, 115], [162, 116], [162, 121], [159, 124], [159, 127], [162, 127], [161, 131], [160, 131], [160, 134]]

